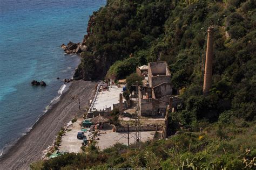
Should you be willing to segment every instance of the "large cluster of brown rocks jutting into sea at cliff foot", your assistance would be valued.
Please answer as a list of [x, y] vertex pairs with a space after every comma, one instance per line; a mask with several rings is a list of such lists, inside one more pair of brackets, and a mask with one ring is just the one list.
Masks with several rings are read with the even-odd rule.
[[84, 51], [86, 51], [87, 47], [83, 45], [82, 43], [73, 43], [69, 41], [68, 45], [62, 44], [60, 47], [65, 51], [66, 54], [80, 54]]

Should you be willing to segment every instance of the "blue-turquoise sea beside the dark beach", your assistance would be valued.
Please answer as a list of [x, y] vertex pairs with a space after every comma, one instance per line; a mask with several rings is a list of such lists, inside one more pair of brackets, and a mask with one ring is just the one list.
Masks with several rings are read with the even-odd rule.
[[[68, 88], [80, 62], [60, 45], [81, 42], [106, 0], [0, 0], [0, 155]], [[59, 80], [57, 80], [59, 77]], [[31, 81], [45, 81], [33, 87]]]

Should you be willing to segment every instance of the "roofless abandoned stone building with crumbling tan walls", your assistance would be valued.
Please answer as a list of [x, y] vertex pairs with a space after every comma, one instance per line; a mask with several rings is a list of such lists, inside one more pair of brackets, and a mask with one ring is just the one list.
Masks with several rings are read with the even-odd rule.
[[147, 86], [139, 86], [139, 115], [164, 116], [172, 95], [171, 74], [166, 62], [150, 62]]

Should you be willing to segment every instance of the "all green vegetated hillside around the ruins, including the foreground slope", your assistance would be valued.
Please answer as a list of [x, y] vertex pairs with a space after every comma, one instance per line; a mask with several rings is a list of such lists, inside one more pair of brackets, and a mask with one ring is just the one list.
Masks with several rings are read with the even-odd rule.
[[[183, 103], [163, 141], [65, 154], [33, 168], [255, 168], [256, 2], [109, 0], [90, 18], [75, 79], [123, 79], [166, 61]], [[203, 96], [207, 29], [214, 27], [213, 85]], [[203, 131], [200, 132], [200, 128]]]

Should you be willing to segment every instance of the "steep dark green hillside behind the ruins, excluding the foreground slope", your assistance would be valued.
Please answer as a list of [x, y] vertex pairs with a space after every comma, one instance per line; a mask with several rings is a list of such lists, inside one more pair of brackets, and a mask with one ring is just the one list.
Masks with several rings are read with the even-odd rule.
[[[255, 116], [255, 1], [107, 1], [89, 21], [76, 79], [123, 79], [167, 61], [181, 91], [184, 124], [220, 113]], [[213, 86], [202, 94], [208, 26], [214, 26]], [[175, 91], [175, 90], [174, 90]]]

